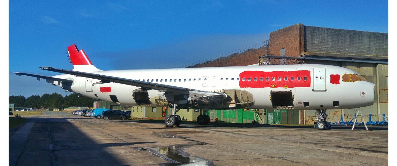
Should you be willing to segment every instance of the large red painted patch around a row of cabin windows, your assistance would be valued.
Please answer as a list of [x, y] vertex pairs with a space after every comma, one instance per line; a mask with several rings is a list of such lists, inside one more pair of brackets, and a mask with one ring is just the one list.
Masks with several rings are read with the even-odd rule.
[[[274, 80], [272, 80], [273, 77]], [[281, 80], [279, 80], [279, 77], [281, 77]], [[287, 77], [287, 79], [285, 79], [285, 77]], [[306, 80], [304, 80], [305, 77]], [[250, 81], [248, 81], [249, 78], [251, 78]], [[261, 78], [263, 80], [260, 80]], [[243, 79], [245, 81], [243, 81]], [[310, 80], [310, 71], [307, 70], [271, 72], [244, 71], [240, 73], [239, 85], [240, 88], [284, 88], [284, 86], [288, 88], [310, 87]]]

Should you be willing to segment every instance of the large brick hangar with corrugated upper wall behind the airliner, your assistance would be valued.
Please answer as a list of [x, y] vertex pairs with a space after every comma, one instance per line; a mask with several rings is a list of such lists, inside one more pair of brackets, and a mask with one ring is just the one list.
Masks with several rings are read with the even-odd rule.
[[[374, 105], [358, 109], [327, 110], [328, 122], [337, 122], [341, 118], [350, 121], [358, 110], [361, 110], [366, 122], [369, 114], [372, 114], [372, 121], [381, 121], [382, 116], [387, 118], [388, 114], [388, 38], [387, 33], [295, 24], [270, 32], [269, 40], [260, 48], [233, 53], [190, 67], [246, 66], [258, 62], [259, 65], [309, 63], [345, 67], [376, 84]], [[311, 110], [266, 110], [266, 123], [313, 124], [316, 121], [315, 113]]]

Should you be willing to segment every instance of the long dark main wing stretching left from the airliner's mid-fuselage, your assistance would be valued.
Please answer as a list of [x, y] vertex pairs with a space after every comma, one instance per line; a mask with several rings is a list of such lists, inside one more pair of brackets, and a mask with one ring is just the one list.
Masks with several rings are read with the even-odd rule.
[[171, 92], [171, 93], [197, 91], [197, 90], [178, 87], [178, 86], [170, 86], [170, 85], [165, 85], [165, 84], [157, 84], [157, 83], [153, 83], [153, 82], [145, 82], [145, 81], [132, 80], [132, 79], [127, 79], [127, 78], [106, 76], [106, 75], [94, 74], [94, 73], [85, 73], [85, 72], [72, 71], [72, 70], [66, 70], [66, 69], [57, 69], [57, 68], [53, 68], [53, 67], [40, 67], [40, 69], [46, 70], [46, 71], [54, 71], [54, 72], [58, 72], [58, 73], [71, 74], [71, 75], [75, 75], [75, 76], [81, 76], [81, 77], [102, 80], [101, 82], [97, 82], [94, 84], [116, 82], [119, 84], [141, 87], [142, 90], [158, 90], [158, 91], [162, 91], [162, 92]]

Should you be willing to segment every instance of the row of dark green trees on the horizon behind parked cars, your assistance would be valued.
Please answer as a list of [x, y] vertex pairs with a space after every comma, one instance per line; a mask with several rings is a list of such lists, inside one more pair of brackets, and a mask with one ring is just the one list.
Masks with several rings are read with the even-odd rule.
[[64, 109], [67, 107], [92, 107], [96, 99], [82, 96], [77, 93], [65, 95], [60, 93], [31, 95], [28, 98], [22, 95], [11, 95], [8, 97], [8, 103], [15, 104], [14, 107], [30, 107], [32, 109]]

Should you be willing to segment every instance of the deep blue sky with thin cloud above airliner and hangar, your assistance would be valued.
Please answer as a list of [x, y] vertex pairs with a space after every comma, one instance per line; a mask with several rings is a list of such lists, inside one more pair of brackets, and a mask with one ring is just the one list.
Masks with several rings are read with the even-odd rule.
[[389, 33], [388, 1], [379, 0], [10, 0], [9, 95], [64, 92], [16, 76], [50, 66], [73, 69], [76, 44], [102, 70], [176, 68], [247, 48], [269, 33], [308, 26]]

